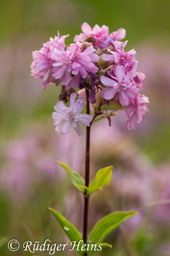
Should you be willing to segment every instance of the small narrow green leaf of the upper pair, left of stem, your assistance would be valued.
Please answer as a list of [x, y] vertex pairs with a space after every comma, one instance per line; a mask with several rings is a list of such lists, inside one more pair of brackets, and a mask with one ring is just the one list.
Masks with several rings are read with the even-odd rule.
[[84, 193], [85, 188], [83, 188], [83, 186], [85, 186], [85, 180], [81, 177], [81, 175], [78, 172], [74, 172], [73, 170], [71, 170], [71, 168], [67, 164], [64, 164], [60, 161], [57, 161], [57, 163], [59, 163], [60, 166], [62, 166], [62, 168], [66, 170], [67, 174], [69, 175], [69, 179], [71, 180], [71, 183], [76, 186], [78, 190]]

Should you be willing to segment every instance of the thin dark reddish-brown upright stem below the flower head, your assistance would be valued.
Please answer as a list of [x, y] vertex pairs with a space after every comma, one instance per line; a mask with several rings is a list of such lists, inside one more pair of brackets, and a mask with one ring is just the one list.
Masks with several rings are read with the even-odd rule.
[[[86, 112], [90, 115], [89, 104], [89, 90], [86, 89]], [[90, 175], [90, 126], [86, 130], [86, 154], [85, 154], [85, 186], [89, 187], [89, 175]], [[87, 243], [87, 227], [88, 227], [88, 211], [89, 211], [89, 196], [87, 191], [84, 195], [84, 220], [83, 220], [83, 241]], [[87, 253], [84, 253], [87, 256]]]

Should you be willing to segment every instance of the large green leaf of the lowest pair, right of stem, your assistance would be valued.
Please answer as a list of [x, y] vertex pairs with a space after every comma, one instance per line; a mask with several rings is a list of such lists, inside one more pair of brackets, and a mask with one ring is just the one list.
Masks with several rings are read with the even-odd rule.
[[127, 220], [131, 216], [134, 216], [138, 212], [113, 212], [106, 215], [99, 220], [92, 229], [88, 241], [90, 243], [101, 243], [103, 239], [108, 236], [113, 230], [115, 230], [123, 221]]

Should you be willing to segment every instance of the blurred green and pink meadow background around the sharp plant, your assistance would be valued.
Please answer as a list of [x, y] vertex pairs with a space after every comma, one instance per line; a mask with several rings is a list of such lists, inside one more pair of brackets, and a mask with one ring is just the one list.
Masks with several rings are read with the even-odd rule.
[[[113, 188], [107, 189], [104, 195], [98, 193], [92, 200], [94, 209], [90, 225], [115, 207], [118, 210], [141, 209], [141, 205], [169, 199], [170, 189], [166, 191], [165, 188], [170, 185], [170, 2], [2, 0], [0, 8], [1, 255], [31, 255], [22, 250], [10, 253], [6, 241], [12, 238], [21, 242], [45, 238], [55, 243], [65, 241], [48, 206], [66, 213], [67, 217], [74, 210], [73, 222], [81, 230], [82, 198], [69, 187], [55, 159], [65, 157], [64, 161], [83, 173], [83, 157], [79, 155], [81, 146], [83, 155], [84, 142], [76, 139], [74, 148], [74, 134], [72, 138], [60, 138], [55, 133], [51, 113], [59, 89], [48, 86], [43, 92], [41, 82], [30, 76], [30, 65], [31, 52], [40, 49], [50, 36], [57, 35], [57, 31], [60, 35], [69, 33], [66, 39], [69, 44], [74, 35], [81, 32], [81, 24], [85, 21], [90, 26], [105, 24], [110, 32], [126, 29], [127, 50], [135, 48], [138, 53], [138, 71], [146, 74], [143, 93], [150, 98], [150, 112], [135, 131], [126, 131], [124, 113], [113, 119], [112, 130], [108, 132], [113, 140], [111, 143], [104, 136], [106, 142], [96, 144], [108, 128], [98, 133], [94, 131], [93, 170], [113, 164], [115, 176]], [[97, 125], [99, 129], [100, 124]], [[132, 180], [134, 183], [128, 186]], [[104, 198], [110, 199], [106, 202]], [[136, 220], [138, 225], [131, 228], [131, 223], [130, 228], [127, 227], [131, 236], [126, 237], [124, 232], [117, 230], [108, 238], [114, 245], [113, 250], [106, 249], [97, 255], [169, 256], [170, 220], [166, 217], [170, 216], [170, 207], [168, 204], [159, 207], [142, 210], [141, 220]], [[48, 254], [39, 252], [38, 255]]]

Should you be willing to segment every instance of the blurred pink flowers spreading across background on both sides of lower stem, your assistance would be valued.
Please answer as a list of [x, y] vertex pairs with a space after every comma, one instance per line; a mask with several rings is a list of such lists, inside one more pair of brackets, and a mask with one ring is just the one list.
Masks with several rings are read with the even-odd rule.
[[[153, 212], [154, 220], [168, 223], [169, 205], [146, 208], [155, 200], [170, 198], [168, 164], [164, 168], [155, 168], [149, 159], [141, 154], [134, 141], [126, 132], [122, 132], [117, 122], [113, 120], [111, 127], [107, 119], [101, 121], [100, 126], [96, 124], [92, 127], [91, 179], [96, 171], [106, 164], [113, 164], [115, 168], [110, 188], [106, 187], [104, 193], [98, 191], [96, 196], [92, 197], [94, 207], [90, 210], [90, 216], [93, 218], [90, 218], [89, 226], [94, 225], [96, 222], [94, 220], [102, 218], [104, 214], [115, 209], [129, 211], [138, 208], [141, 209], [140, 214], [127, 221], [125, 225], [129, 232], [134, 232], [143, 225], [146, 209]], [[61, 180], [66, 181], [67, 174], [59, 164], [55, 163], [57, 159], [67, 162], [73, 170], [83, 175], [85, 156], [83, 136], [78, 138], [74, 131], [66, 136], [57, 136], [52, 130], [52, 127], [51, 129], [43, 127], [43, 132], [39, 132], [38, 125], [29, 136], [10, 140], [7, 144], [4, 150], [5, 161], [1, 164], [0, 180], [1, 190], [6, 191], [11, 200], [29, 200], [30, 196], [34, 195], [36, 191], [34, 189], [39, 186], [39, 182], [43, 182], [42, 184], [48, 182], [52, 189], [61, 183]], [[81, 225], [82, 198], [81, 195], [77, 197], [73, 186], [69, 189], [70, 192], [64, 202], [66, 216], [73, 223]], [[108, 193], [112, 193], [113, 196], [110, 200], [104, 200]], [[100, 200], [103, 200], [102, 209], [100, 209]], [[75, 205], [78, 211], [77, 214], [72, 214]], [[100, 214], [96, 214], [97, 209], [100, 209]]]

